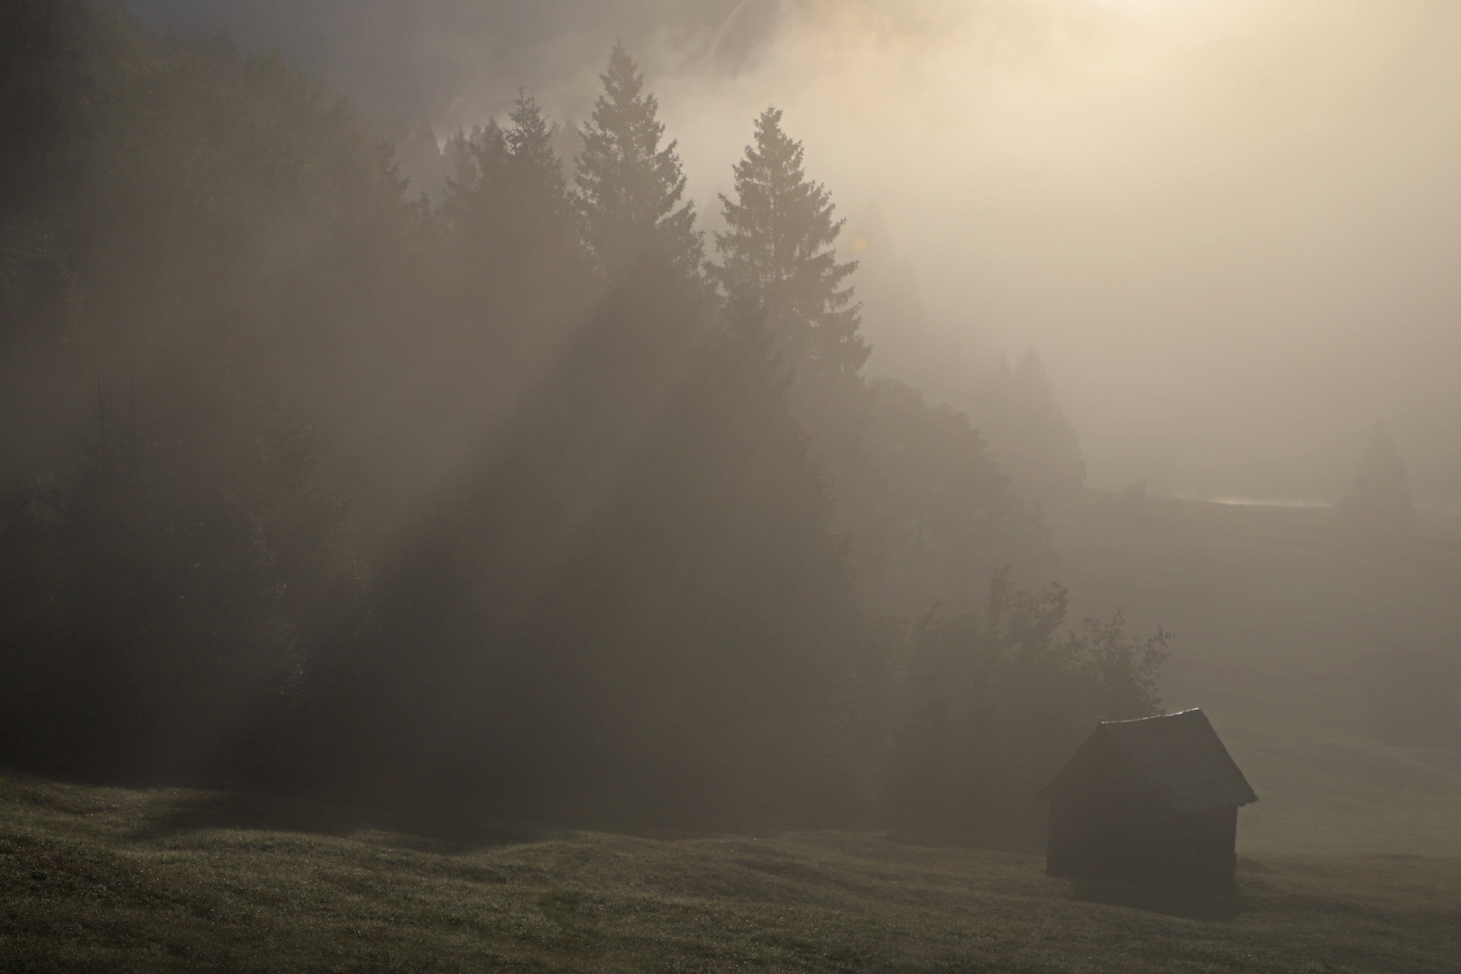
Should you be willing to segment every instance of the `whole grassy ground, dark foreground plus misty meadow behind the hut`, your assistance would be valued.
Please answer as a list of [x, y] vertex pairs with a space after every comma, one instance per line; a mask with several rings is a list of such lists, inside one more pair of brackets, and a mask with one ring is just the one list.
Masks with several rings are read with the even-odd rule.
[[1261, 796], [1236, 894], [887, 834], [628, 837], [7, 775], [0, 967], [1461, 970], [1461, 742], [1395, 740], [1366, 663], [1455, 644], [1455, 526], [1376, 546], [1327, 510], [1100, 492], [1052, 521], [1077, 610], [1179, 634], [1169, 708], [1204, 707]]

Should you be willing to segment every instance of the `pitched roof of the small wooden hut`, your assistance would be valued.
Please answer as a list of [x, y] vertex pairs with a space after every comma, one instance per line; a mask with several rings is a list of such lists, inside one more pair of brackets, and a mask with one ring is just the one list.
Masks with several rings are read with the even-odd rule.
[[1195, 708], [1164, 717], [1102, 723], [1040, 797], [1084, 790], [1097, 772], [1093, 765], [1105, 764], [1103, 755], [1125, 764], [1159, 800], [1178, 812], [1207, 812], [1258, 800], [1207, 714]]

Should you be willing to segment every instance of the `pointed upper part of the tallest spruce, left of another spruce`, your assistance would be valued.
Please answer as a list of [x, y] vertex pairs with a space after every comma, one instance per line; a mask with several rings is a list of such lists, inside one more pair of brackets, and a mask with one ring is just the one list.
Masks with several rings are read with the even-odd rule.
[[659, 102], [643, 93], [644, 76], [622, 44], [614, 45], [609, 70], [599, 80], [603, 95], [580, 129], [584, 149], [574, 175], [584, 244], [609, 279], [644, 256], [694, 275], [704, 245], [694, 202], [681, 202], [685, 177], [678, 143], [659, 146], [665, 134]]

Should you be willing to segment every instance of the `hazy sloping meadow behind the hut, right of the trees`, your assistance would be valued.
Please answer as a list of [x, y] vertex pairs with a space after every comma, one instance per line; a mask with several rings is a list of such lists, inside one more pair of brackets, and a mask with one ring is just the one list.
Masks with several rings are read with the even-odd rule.
[[1327, 508], [1100, 492], [1055, 517], [1077, 615], [1176, 631], [1163, 698], [1202, 707], [1258, 791], [1251, 853], [1461, 854], [1461, 735], [1386, 737], [1366, 694], [1392, 654], [1461, 651], [1457, 529], [1376, 543]]

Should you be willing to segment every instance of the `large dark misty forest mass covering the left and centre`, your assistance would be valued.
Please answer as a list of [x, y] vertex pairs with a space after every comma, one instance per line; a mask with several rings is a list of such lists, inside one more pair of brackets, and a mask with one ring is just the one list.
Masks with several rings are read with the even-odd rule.
[[602, 80], [576, 159], [520, 93], [434, 204], [279, 54], [0, 6], [0, 762], [961, 831], [1154, 711], [1161, 634], [1014, 587], [1039, 513], [863, 377], [780, 112], [707, 247]]

